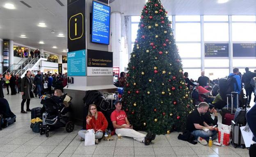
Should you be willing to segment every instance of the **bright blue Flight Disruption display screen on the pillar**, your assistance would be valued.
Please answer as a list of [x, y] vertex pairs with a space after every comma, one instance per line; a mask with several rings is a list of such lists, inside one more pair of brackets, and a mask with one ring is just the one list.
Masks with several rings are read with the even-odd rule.
[[91, 42], [109, 44], [110, 34], [110, 7], [92, 2]]

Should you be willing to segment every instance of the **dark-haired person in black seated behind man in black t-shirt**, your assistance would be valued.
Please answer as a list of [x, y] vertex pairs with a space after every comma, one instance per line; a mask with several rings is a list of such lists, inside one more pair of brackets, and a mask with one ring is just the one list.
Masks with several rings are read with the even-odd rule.
[[[214, 119], [212, 115], [214, 114]], [[215, 106], [212, 104], [209, 105], [208, 111], [203, 115], [204, 122], [209, 126], [215, 126], [218, 123], [218, 115], [217, 110], [215, 110]]]

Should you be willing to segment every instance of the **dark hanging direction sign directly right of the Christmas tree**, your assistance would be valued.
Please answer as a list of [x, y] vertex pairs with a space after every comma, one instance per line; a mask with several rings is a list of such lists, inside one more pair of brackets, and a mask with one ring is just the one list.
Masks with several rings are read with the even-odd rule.
[[229, 44], [204, 44], [205, 57], [229, 57]]

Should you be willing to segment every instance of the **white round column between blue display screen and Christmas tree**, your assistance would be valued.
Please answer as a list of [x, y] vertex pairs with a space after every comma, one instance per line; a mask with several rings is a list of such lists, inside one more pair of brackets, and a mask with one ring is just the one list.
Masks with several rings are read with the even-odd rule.
[[121, 13], [112, 12], [110, 18], [110, 26], [112, 30], [112, 52], [113, 66], [119, 66], [120, 71], [124, 71], [121, 65]]

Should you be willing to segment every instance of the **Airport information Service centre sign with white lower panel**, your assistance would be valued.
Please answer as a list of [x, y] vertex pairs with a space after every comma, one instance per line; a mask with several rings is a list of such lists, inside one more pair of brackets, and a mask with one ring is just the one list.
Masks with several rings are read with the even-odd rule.
[[112, 73], [112, 52], [87, 50], [87, 76], [111, 76]]

